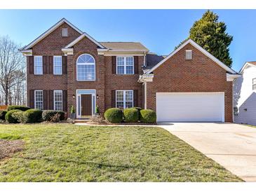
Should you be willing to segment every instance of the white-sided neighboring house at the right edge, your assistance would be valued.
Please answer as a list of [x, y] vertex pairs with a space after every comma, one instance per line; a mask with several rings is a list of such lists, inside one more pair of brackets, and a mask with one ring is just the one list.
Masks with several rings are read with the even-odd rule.
[[256, 125], [256, 62], [245, 62], [234, 81], [234, 122]]

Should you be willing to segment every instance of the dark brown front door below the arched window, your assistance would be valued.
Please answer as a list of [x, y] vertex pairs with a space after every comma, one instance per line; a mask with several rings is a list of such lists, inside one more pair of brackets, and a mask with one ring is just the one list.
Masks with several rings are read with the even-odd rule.
[[81, 117], [92, 116], [92, 95], [81, 95]]

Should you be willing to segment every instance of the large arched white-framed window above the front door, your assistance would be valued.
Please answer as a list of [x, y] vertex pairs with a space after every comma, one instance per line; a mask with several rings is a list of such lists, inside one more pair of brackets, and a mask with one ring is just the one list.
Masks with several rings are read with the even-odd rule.
[[92, 55], [83, 54], [77, 58], [76, 80], [95, 81], [95, 60]]

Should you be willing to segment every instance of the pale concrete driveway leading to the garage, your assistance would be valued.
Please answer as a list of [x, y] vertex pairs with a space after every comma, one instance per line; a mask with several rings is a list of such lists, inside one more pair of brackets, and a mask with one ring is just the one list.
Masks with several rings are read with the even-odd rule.
[[234, 123], [159, 123], [244, 181], [256, 181], [256, 128]]

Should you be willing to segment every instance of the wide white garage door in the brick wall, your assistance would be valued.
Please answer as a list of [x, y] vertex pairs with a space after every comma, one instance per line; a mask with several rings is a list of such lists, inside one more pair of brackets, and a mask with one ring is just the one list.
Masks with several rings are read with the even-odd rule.
[[156, 115], [158, 122], [224, 122], [224, 92], [157, 92]]

